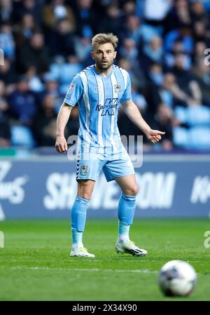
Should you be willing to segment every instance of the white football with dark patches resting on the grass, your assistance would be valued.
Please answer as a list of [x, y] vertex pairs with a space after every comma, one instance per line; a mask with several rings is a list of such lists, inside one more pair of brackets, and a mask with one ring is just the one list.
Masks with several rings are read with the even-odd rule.
[[195, 269], [183, 260], [171, 260], [164, 264], [158, 276], [160, 290], [166, 296], [185, 297], [195, 288]]

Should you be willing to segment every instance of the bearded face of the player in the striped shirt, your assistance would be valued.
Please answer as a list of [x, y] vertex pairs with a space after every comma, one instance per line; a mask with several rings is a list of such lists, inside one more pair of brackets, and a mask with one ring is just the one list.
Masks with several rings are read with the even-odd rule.
[[103, 43], [91, 53], [97, 68], [102, 71], [107, 70], [112, 66], [113, 60], [116, 58], [116, 54], [117, 53], [114, 51], [111, 43]]

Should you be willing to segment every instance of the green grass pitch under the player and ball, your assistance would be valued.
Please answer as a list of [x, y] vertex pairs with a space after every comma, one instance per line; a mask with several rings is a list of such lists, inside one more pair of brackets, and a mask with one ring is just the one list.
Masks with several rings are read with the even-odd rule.
[[[117, 219], [87, 219], [84, 245], [96, 257], [69, 257], [68, 220], [0, 222], [0, 300], [210, 300], [210, 248], [204, 247], [209, 219], [134, 220], [130, 236], [146, 257], [117, 254]], [[195, 267], [190, 297], [164, 297], [158, 272], [169, 260]]]

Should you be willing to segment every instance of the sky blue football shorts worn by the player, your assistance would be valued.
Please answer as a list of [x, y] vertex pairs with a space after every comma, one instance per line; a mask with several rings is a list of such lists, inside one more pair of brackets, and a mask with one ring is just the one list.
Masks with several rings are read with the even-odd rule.
[[134, 166], [126, 151], [123, 154], [101, 154], [94, 156], [78, 156], [76, 165], [76, 180], [97, 180], [103, 170], [107, 182], [125, 175], [134, 174]]

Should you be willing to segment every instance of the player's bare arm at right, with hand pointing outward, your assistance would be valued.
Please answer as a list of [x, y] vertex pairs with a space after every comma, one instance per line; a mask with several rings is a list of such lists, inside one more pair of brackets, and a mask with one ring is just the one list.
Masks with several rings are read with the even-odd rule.
[[141, 129], [146, 138], [153, 143], [159, 142], [161, 140], [161, 135], [165, 135], [165, 132], [160, 130], [153, 130], [148, 123], [143, 119], [137, 105], [134, 104], [132, 100], [123, 100], [121, 101], [123, 106], [123, 111], [127, 114], [128, 118]]

